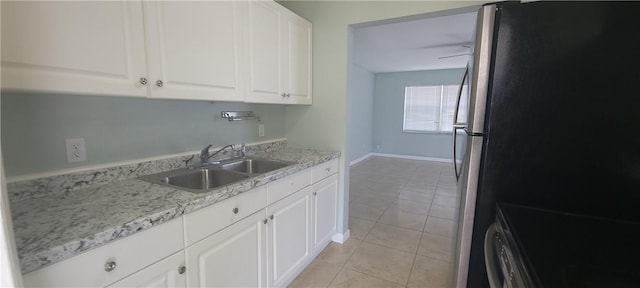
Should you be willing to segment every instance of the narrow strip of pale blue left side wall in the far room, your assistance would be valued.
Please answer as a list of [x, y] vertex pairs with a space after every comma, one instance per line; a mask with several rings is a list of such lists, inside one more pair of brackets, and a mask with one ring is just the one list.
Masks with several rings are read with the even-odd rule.
[[373, 87], [375, 75], [352, 65], [349, 71], [349, 161], [371, 153], [373, 140]]

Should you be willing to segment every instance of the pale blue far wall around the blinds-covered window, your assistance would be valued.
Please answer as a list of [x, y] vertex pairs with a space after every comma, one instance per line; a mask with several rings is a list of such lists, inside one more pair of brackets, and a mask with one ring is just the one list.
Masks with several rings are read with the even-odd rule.
[[375, 74], [373, 150], [451, 159], [451, 134], [404, 133], [404, 88], [423, 85], [459, 85], [464, 69]]

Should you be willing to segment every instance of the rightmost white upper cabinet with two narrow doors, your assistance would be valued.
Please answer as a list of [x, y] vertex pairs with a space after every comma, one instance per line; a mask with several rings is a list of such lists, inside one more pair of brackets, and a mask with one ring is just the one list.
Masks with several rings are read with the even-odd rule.
[[311, 23], [272, 1], [247, 3], [245, 102], [311, 104]]

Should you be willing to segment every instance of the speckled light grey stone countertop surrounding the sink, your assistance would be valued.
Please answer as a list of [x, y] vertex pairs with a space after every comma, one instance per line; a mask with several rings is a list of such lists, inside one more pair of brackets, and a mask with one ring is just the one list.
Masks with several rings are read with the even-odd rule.
[[200, 194], [134, 178], [12, 201], [11, 212], [22, 273], [68, 259], [338, 158], [340, 153], [285, 147], [256, 151], [247, 156], [297, 164]]

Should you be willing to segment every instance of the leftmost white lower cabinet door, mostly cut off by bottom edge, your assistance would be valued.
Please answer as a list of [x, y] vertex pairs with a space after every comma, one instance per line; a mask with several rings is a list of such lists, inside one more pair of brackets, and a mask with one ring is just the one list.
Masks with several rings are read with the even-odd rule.
[[109, 287], [187, 287], [184, 251], [173, 254]]

